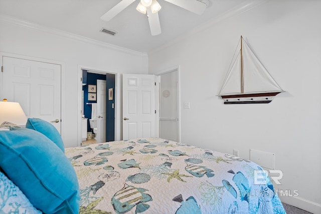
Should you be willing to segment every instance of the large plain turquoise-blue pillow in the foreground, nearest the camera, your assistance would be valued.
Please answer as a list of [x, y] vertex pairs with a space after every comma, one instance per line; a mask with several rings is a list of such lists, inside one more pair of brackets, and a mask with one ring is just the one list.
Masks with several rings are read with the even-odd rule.
[[26, 128], [0, 131], [0, 168], [44, 213], [79, 212], [76, 172], [42, 133]]

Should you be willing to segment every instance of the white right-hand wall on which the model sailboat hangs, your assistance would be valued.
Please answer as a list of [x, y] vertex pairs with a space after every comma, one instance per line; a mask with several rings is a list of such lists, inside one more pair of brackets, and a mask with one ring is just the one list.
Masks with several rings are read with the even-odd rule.
[[[267, 1], [148, 53], [150, 73], [180, 65], [182, 142], [238, 149], [247, 159], [249, 149], [275, 153], [284, 173], [275, 188], [299, 193], [282, 200], [314, 213], [321, 213], [320, 8]], [[241, 35], [286, 91], [270, 104], [224, 105], [217, 97]]]

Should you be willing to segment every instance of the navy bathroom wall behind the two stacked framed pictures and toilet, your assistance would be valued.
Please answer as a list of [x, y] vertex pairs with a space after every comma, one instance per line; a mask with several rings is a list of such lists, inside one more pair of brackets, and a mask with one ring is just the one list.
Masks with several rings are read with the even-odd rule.
[[[86, 70], [83, 70], [86, 71]], [[96, 103], [97, 101], [89, 101], [88, 100], [88, 85], [97, 85], [97, 80], [106, 80], [106, 75], [103, 74], [93, 74], [88, 72], [83, 72], [83, 79], [84, 75], [87, 75], [87, 85], [84, 85], [82, 89], [84, 90], [84, 115], [85, 118], [88, 118], [87, 122], [87, 131], [91, 131], [89, 125], [89, 119], [91, 119], [91, 105], [87, 105], [86, 103]]]

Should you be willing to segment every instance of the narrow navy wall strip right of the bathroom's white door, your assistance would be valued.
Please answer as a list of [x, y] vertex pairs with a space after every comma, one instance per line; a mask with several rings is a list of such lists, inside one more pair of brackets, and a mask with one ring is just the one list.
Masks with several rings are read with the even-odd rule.
[[[106, 90], [107, 90], [107, 101], [106, 101], [106, 141], [115, 140], [115, 74], [106, 74]], [[113, 99], [109, 100], [109, 89], [113, 89]], [[112, 108], [114, 105], [114, 108]]]

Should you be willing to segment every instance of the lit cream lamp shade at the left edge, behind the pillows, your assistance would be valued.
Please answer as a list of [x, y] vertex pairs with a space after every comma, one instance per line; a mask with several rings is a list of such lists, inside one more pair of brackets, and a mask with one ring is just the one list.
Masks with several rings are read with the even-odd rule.
[[19, 103], [0, 102], [0, 124], [5, 121], [17, 125], [26, 125], [27, 117]]

